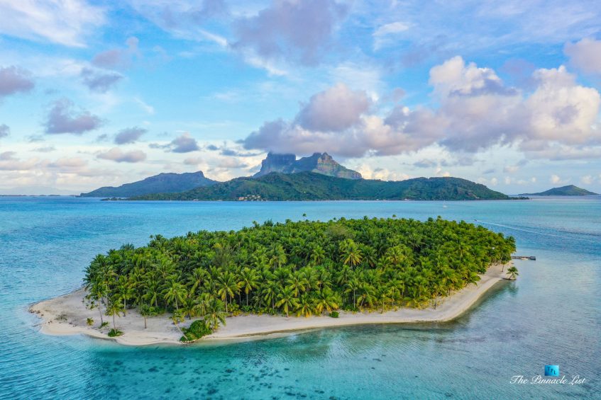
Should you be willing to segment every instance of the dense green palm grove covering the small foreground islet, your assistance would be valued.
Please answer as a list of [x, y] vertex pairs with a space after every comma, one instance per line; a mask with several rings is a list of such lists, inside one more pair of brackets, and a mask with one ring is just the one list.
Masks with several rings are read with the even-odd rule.
[[514, 250], [512, 237], [440, 217], [268, 221], [238, 232], [151, 236], [148, 246], [96, 256], [84, 280], [101, 319], [133, 308], [144, 317], [168, 312], [176, 326], [202, 318], [206, 334], [239, 312], [436, 307]]

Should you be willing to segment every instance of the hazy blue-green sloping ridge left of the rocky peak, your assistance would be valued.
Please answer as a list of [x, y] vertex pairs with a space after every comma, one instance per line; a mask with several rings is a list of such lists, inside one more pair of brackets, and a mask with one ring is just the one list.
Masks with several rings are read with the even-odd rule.
[[179, 193], [198, 188], [199, 186], [214, 185], [217, 181], [205, 178], [202, 171], [187, 173], [159, 173], [142, 181], [126, 183], [118, 186], [104, 186], [89, 193], [82, 193], [84, 198], [131, 198], [132, 196], [148, 195], [150, 193]]

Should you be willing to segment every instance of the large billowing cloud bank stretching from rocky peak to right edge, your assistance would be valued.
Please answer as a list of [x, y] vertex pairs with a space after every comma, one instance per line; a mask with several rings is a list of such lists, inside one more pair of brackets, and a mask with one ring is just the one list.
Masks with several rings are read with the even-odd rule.
[[562, 147], [574, 157], [578, 147], [592, 154], [591, 146], [601, 142], [600, 93], [578, 84], [563, 66], [537, 69], [532, 81], [534, 87], [522, 91], [492, 69], [453, 57], [431, 69], [431, 107], [399, 104], [386, 111], [376, 103], [368, 110], [364, 93], [337, 85], [313, 96], [293, 120], [265, 122], [241, 143], [246, 149], [350, 157], [409, 153], [431, 144], [460, 154], [497, 144], [544, 158]]

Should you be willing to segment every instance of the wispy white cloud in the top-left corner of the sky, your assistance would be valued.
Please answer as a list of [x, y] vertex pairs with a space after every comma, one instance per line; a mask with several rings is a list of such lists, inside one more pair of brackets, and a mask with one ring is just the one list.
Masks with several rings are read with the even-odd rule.
[[84, 47], [84, 38], [104, 21], [104, 8], [85, 0], [0, 1], [0, 33], [18, 38]]

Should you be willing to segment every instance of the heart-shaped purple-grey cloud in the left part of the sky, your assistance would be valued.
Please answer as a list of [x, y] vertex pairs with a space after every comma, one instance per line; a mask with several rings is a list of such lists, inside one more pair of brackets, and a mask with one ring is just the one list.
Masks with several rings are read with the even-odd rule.
[[53, 103], [44, 125], [45, 132], [49, 134], [82, 135], [84, 132], [97, 129], [101, 125], [101, 120], [89, 111], [75, 111], [72, 101], [62, 98]]

